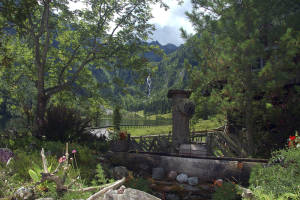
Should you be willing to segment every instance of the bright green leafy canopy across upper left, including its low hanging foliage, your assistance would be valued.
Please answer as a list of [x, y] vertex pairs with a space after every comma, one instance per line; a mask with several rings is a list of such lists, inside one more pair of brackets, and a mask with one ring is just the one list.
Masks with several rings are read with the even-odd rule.
[[[94, 94], [101, 84], [93, 74], [97, 70], [144, 72], [149, 65], [141, 55], [154, 49], [142, 42], [154, 30], [149, 23], [151, 5], [168, 7], [162, 0], [85, 3], [90, 9], [75, 11], [68, 1], [58, 0], [1, 4], [5, 12], [0, 12], [0, 61], [7, 67], [0, 69], [0, 85], [5, 86], [0, 98], [12, 100], [9, 111], [27, 115], [28, 126], [35, 111], [39, 136], [44, 134], [48, 103], [93, 99], [83, 104], [98, 107], [99, 96]], [[119, 80], [113, 77], [108, 84], [125, 87]], [[99, 109], [91, 111], [97, 121]]]

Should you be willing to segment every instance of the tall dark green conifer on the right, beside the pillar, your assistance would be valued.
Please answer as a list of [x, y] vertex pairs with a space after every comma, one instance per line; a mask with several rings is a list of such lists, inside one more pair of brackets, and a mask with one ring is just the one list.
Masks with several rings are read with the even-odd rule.
[[239, 131], [246, 128], [247, 150], [253, 155], [254, 144], [261, 144], [262, 138], [257, 134], [263, 128], [258, 122], [269, 118], [265, 105], [272, 100], [270, 94], [300, 83], [295, 77], [299, 75], [299, 61], [295, 60], [299, 57], [299, 2], [192, 3], [194, 9], [187, 16], [197, 34], [191, 37], [182, 31], [182, 35], [194, 44], [201, 66], [193, 71], [194, 84], [198, 85], [194, 97], [213, 98], [229, 122], [234, 122]]

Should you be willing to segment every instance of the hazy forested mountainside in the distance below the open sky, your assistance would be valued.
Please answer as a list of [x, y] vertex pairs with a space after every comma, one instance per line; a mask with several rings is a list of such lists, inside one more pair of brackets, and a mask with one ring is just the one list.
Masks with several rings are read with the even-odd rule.
[[[94, 75], [102, 86], [100, 93], [112, 104], [121, 104], [126, 110], [144, 110], [145, 113], [166, 113], [170, 103], [166, 97], [169, 89], [185, 89], [188, 86], [188, 73], [184, 61], [195, 64], [191, 59], [191, 48], [186, 45], [176, 47], [173, 44], [161, 45], [157, 41], [149, 45], [158, 46], [164, 55], [146, 53], [152, 68], [142, 73], [130, 69], [109, 71], [100, 69]], [[151, 76], [151, 95], [148, 97], [146, 78]], [[118, 80], [118, 81], [116, 81]], [[111, 84], [114, 83], [114, 84]]]

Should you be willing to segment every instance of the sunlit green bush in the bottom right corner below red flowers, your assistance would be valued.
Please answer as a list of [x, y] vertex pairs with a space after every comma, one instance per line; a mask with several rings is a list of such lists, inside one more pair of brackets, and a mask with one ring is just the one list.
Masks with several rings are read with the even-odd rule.
[[252, 170], [249, 183], [258, 199], [299, 199], [299, 148], [275, 151], [267, 166]]

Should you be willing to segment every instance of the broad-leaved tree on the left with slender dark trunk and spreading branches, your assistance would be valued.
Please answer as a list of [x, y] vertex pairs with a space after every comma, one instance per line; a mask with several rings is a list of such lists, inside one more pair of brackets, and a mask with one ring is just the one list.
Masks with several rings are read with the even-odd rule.
[[[15, 58], [23, 61], [16, 75], [33, 81], [37, 92], [36, 135], [43, 134], [46, 108], [51, 98], [74, 85], [84, 85], [92, 77], [91, 68], [146, 65], [141, 52], [153, 31], [148, 23], [151, 4], [161, 0], [88, 0], [88, 8], [71, 11], [67, 0], [4, 0], [0, 4], [1, 27], [11, 40], [7, 46]], [[10, 33], [7, 30], [13, 30]], [[13, 39], [13, 40], [12, 40]], [[22, 53], [26, 52], [26, 56]], [[20, 65], [20, 66], [18, 66]], [[87, 86], [88, 87], [88, 86]]]

